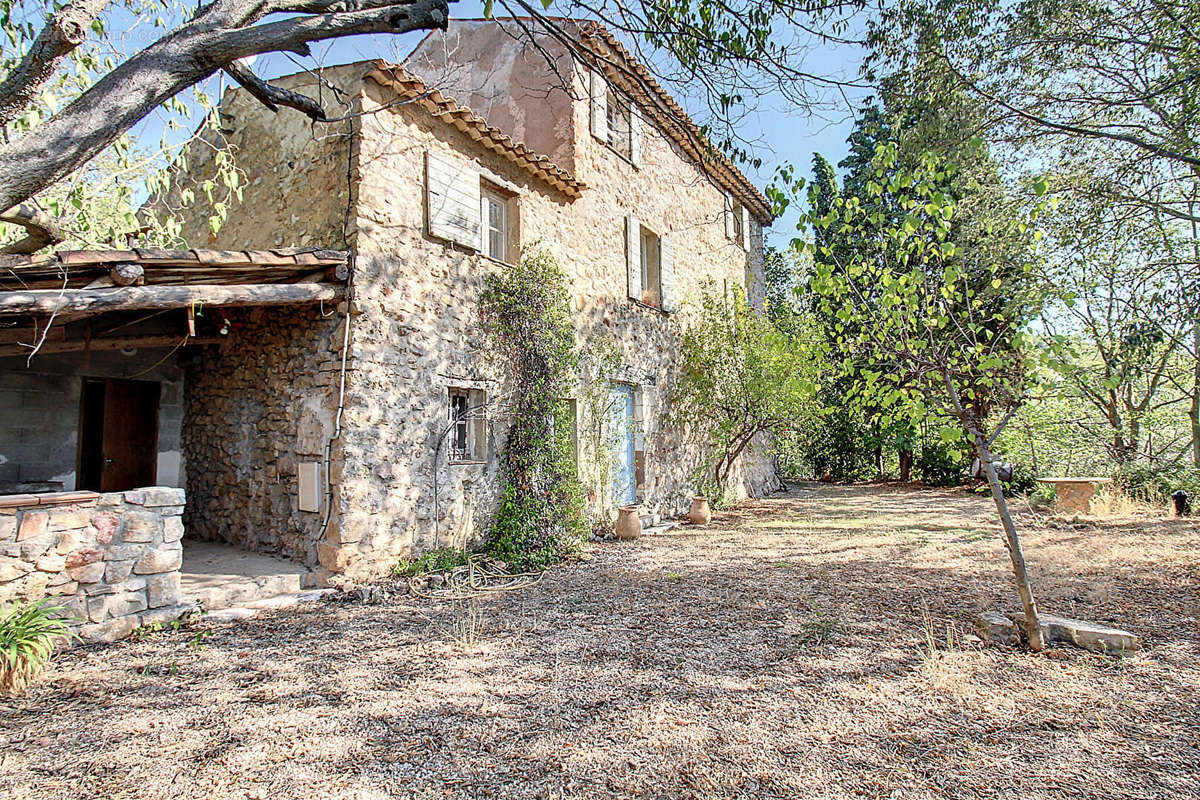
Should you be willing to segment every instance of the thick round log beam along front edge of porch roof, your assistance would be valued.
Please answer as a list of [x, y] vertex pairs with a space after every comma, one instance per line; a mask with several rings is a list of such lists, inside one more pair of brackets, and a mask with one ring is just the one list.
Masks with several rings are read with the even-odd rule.
[[101, 289], [0, 291], [0, 317], [47, 317], [55, 312], [98, 314], [108, 311], [158, 311], [203, 303], [222, 306], [294, 306], [341, 300], [346, 287], [334, 283], [247, 283], [240, 285], [143, 285]]

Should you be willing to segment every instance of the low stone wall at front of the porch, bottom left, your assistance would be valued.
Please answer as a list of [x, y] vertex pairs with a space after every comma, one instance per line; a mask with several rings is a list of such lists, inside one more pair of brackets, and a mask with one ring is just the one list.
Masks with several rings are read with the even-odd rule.
[[182, 489], [0, 497], [0, 602], [50, 597], [85, 642], [175, 619]]

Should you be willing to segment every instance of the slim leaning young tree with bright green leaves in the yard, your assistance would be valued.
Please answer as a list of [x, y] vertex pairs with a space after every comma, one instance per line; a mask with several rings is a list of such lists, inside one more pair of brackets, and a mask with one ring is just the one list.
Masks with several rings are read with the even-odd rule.
[[[980, 264], [988, 276], [964, 266], [952, 239], [958, 213], [947, 188], [952, 172], [934, 155], [904, 167], [894, 143], [880, 145], [865, 191], [876, 200], [887, 193], [904, 216], [894, 221], [850, 197], [836, 204], [832, 218], [810, 213], [802, 224], [836, 228], [859, 243], [848, 263], [815, 259], [814, 281], [827, 313], [839, 320], [838, 336], [863, 354], [863, 380], [854, 392], [877, 407], [884, 421], [934, 422], [947, 443], [965, 438], [983, 464], [1008, 541], [1030, 645], [1039, 650], [1037, 602], [991, 445], [1025, 391], [1025, 372], [1014, 355], [1028, 345], [1025, 324], [1030, 309], [1040, 306], [1040, 287], [1007, 279], [994, 261]], [[1039, 212], [1036, 207], [1034, 215]], [[1032, 229], [1026, 230], [1032, 240]], [[1032, 263], [1021, 267], [1032, 270]], [[1001, 411], [1001, 422], [992, 423], [995, 417], [980, 409]]]

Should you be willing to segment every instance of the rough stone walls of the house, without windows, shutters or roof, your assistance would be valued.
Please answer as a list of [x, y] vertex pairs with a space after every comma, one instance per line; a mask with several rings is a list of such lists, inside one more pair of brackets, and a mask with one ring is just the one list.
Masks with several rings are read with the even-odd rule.
[[[667, 425], [680, 333], [695, 319], [704, 291], [749, 284], [752, 297], [761, 294], [755, 287], [762, 275], [758, 224], [751, 224], [746, 248], [726, 239], [722, 192], [660, 132], [646, 131], [641, 168], [592, 138], [581, 86], [575, 88], [581, 100], [574, 101], [563, 130], [570, 132], [577, 175], [588, 190], [571, 201], [444, 120], [396, 104], [390, 90], [361, 82], [368, 68], [325, 71], [342, 85], [359, 77], [360, 94], [346, 102], [361, 115], [341, 143], [335, 132], [317, 136], [295, 112], [275, 115], [244, 92], [227, 95], [226, 102], [238, 109], [236, 130], [229, 136], [257, 188], [247, 191], [245, 201], [230, 211], [232, 224], [211, 240], [221, 247], [270, 246], [263, 237], [287, 231], [289, 217], [299, 215], [295, 224], [305, 235], [325, 235], [302, 243], [348, 245], [354, 251], [344, 415], [329, 476], [330, 525], [320, 530], [318, 516], [296, 511], [294, 470], [298, 462], [317, 458], [317, 445], [331, 433], [334, 353], [342, 318], [296, 324], [290, 314], [254, 312], [239, 317], [246, 327], [232, 337], [232, 345], [206, 355], [188, 373], [190, 530], [316, 561], [326, 575], [355, 577], [382, 573], [396, 559], [434, 543], [469, 545], [486, 531], [498, 491], [503, 413], [497, 409], [486, 426], [481, 461], [449, 464], [443, 456], [437, 471], [433, 463], [450, 389], [491, 398], [505, 392], [503, 375], [486, 357], [479, 320], [484, 277], [503, 267], [427, 235], [426, 151], [475, 160], [517, 193], [514, 229], [520, 230], [520, 245], [538, 242], [566, 271], [581, 347], [616, 348], [618, 366], [600, 381], [637, 387], [646, 420], [643, 509], [652, 516], [685, 511], [706, 440], [702, 433]], [[556, 124], [556, 130], [562, 127]], [[312, 172], [316, 188], [305, 188], [302, 175], [289, 175], [292, 196], [272, 196], [266, 185], [280, 178], [275, 166], [281, 148], [298, 170]], [[344, 227], [334, 221], [324, 199], [314, 199], [320, 187], [337, 185], [337, 158], [329, 154], [343, 152], [349, 157]], [[310, 200], [318, 207], [316, 216], [306, 210]], [[624, 218], [631, 213], [674, 242], [684, 299], [678, 313], [626, 296]], [[203, 215], [185, 230], [206, 237]], [[600, 414], [586, 407], [578, 413], [581, 425]], [[301, 431], [308, 432], [304, 443]], [[588, 458], [581, 453], [581, 461]], [[744, 455], [731, 480], [737, 495], [773, 485], [769, 461], [756, 452]], [[605, 488], [593, 489], [596, 506], [611, 505]]]

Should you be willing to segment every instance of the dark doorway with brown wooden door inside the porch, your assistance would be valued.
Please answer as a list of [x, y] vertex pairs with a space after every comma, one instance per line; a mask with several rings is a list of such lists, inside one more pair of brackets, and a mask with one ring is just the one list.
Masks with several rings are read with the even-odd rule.
[[122, 492], [155, 485], [160, 389], [152, 380], [84, 379], [78, 488]]

